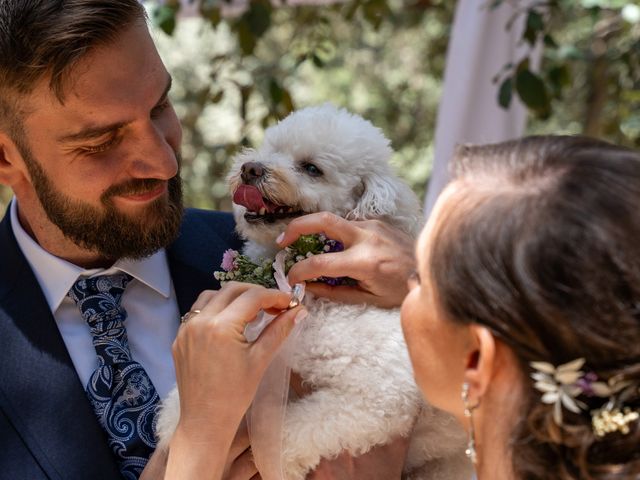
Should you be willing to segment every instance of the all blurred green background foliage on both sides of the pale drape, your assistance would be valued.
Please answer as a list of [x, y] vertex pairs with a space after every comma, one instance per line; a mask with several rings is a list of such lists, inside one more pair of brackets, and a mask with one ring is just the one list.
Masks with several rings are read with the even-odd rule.
[[[524, 3], [488, 0], [483, 8], [504, 2]], [[636, 3], [546, 0], [519, 8], [527, 26], [521, 41], [544, 44], [542, 67], [530, 71], [526, 57], [505, 65], [494, 78], [495, 101], [524, 101], [528, 133], [585, 133], [639, 147]], [[396, 151], [396, 170], [424, 195], [454, 1], [145, 5], [174, 78], [187, 205], [229, 209], [231, 156], [258, 145], [264, 129], [291, 110], [325, 101], [380, 127]], [[10, 195], [0, 187], [0, 211]]]

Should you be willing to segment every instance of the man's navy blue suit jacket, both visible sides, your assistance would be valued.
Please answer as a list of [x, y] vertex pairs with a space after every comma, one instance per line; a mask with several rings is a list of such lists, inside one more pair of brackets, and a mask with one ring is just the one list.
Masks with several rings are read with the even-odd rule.
[[[187, 210], [167, 249], [180, 313], [238, 249], [230, 214]], [[179, 320], [176, 318], [176, 322]], [[120, 479], [40, 286], [0, 223], [0, 479]]]

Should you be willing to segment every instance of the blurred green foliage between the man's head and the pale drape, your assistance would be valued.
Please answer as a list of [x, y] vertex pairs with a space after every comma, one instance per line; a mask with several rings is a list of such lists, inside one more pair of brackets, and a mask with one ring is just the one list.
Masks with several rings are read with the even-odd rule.
[[[172, 99], [185, 126], [189, 204], [230, 208], [223, 172], [233, 153], [259, 144], [264, 129], [294, 108], [326, 101], [382, 128], [397, 151], [397, 170], [424, 190], [451, 2], [431, 1], [425, 15], [426, 3], [276, 8], [260, 1], [235, 16], [224, 4], [205, 2], [200, 18], [206, 21], [167, 22], [176, 5], [152, 7], [151, 17], [171, 35], [158, 34], [157, 43], [174, 76]], [[190, 36], [186, 43], [197, 46], [185, 48]], [[209, 71], [195, 86], [194, 62]]]

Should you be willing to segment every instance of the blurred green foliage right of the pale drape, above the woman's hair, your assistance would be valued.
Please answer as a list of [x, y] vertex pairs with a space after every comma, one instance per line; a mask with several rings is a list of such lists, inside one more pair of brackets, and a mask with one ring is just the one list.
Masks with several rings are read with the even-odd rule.
[[496, 76], [499, 103], [508, 106], [517, 93], [535, 117], [533, 132], [583, 133], [639, 147], [638, 2], [547, 0], [517, 15], [526, 17], [522, 41], [532, 50], [543, 45], [542, 66], [531, 71], [529, 56], [506, 65]]

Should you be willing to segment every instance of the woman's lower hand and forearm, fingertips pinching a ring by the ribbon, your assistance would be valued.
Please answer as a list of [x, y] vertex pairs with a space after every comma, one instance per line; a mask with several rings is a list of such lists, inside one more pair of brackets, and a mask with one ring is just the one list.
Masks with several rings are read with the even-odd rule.
[[[238, 425], [276, 351], [302, 307], [284, 311], [291, 295], [231, 282], [203, 292], [200, 310], [180, 327], [173, 345], [180, 421], [165, 478], [221, 478]], [[260, 310], [284, 311], [254, 343], [243, 335]], [[298, 317], [300, 318], [300, 317]]]

